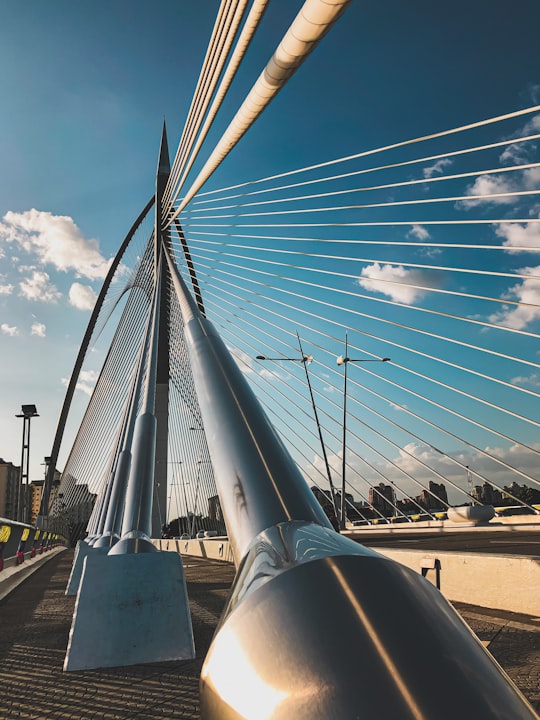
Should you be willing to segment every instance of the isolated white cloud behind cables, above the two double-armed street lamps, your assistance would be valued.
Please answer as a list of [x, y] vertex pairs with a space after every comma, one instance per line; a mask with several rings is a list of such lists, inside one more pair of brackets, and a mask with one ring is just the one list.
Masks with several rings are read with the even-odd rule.
[[426, 294], [421, 287], [440, 287], [437, 279], [430, 272], [406, 270], [403, 265], [379, 263], [363, 268], [358, 284], [365, 290], [388, 295], [392, 300], [406, 305], [412, 305]]

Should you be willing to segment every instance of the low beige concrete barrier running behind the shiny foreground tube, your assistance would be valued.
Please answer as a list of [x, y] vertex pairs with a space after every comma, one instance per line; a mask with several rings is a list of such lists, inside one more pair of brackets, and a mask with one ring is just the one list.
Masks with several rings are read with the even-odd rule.
[[[233, 561], [227, 538], [153, 542], [163, 551]], [[539, 558], [385, 548], [377, 548], [377, 552], [423, 575], [447, 600], [540, 615]]]

